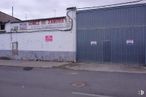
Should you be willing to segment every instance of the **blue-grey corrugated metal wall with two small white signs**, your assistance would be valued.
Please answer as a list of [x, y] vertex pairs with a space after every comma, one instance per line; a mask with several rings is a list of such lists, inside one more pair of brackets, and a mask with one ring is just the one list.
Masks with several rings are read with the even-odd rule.
[[77, 11], [78, 61], [144, 64], [145, 37], [145, 4]]

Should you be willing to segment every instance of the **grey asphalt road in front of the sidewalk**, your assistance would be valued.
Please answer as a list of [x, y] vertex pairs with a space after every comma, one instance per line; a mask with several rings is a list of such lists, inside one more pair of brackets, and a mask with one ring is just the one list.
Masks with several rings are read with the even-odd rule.
[[0, 67], [0, 97], [146, 97], [146, 74]]

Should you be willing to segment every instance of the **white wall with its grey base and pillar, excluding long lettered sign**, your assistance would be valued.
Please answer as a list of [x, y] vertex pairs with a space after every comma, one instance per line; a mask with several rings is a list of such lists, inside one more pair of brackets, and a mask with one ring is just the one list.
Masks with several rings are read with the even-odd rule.
[[[76, 13], [68, 10], [73, 19], [71, 30], [46, 30], [34, 32], [7, 32], [0, 34], [0, 57], [22, 60], [76, 60]], [[69, 17], [66, 17], [67, 19]], [[6, 30], [18, 23], [7, 24]], [[17, 53], [13, 54], [12, 44], [17, 42]]]

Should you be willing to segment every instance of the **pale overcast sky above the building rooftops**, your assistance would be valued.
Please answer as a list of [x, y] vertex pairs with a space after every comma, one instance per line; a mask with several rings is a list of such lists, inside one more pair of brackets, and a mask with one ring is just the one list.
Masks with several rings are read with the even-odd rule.
[[49, 18], [64, 16], [67, 7], [90, 7], [134, 0], [1, 0], [0, 11], [25, 19]]

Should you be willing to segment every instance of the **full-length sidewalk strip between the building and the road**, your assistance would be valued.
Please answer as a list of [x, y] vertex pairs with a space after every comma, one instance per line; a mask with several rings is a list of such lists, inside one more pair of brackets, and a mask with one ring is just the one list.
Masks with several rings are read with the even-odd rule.
[[144, 66], [123, 65], [123, 64], [0, 60], [0, 66], [65, 68], [71, 70], [86, 70], [86, 71], [146, 73], [146, 67]]

